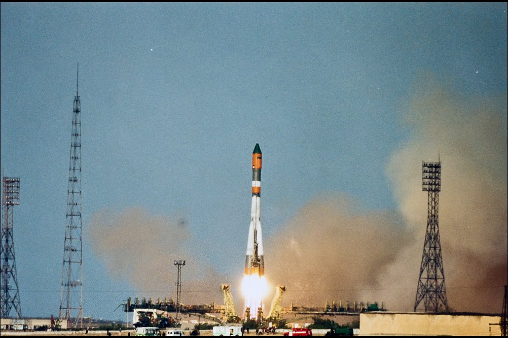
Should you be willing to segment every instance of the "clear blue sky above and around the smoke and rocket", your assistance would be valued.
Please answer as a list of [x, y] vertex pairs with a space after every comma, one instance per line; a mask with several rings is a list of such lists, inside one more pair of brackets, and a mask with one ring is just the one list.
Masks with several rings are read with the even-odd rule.
[[[403, 209], [386, 170], [415, 134], [402, 116], [422, 77], [457, 97], [501, 97], [506, 125], [506, 10], [2, 3], [1, 166], [21, 179], [14, 242], [23, 315], [58, 312], [78, 63], [84, 315], [124, 319], [113, 310], [143, 290], [108, 271], [92, 245], [94, 214], [139, 208], [184, 220], [189, 257], [232, 281], [243, 269], [256, 143], [267, 240], [322, 194]], [[430, 149], [434, 160], [439, 151]], [[427, 154], [417, 155], [419, 166]], [[172, 259], [178, 252], [167, 263], [176, 281]]]

